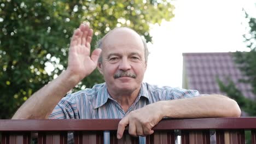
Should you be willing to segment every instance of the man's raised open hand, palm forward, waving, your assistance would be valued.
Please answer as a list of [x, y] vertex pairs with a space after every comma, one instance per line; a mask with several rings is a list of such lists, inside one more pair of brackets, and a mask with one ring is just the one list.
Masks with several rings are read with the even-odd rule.
[[90, 57], [92, 32], [93, 30], [88, 25], [81, 24], [75, 29], [71, 39], [67, 71], [76, 82], [90, 75], [97, 67], [101, 49], [95, 49]]

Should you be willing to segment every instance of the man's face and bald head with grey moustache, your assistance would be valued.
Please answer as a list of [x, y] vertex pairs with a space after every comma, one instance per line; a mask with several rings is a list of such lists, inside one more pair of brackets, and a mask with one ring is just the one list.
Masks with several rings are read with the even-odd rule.
[[98, 68], [108, 91], [127, 93], [139, 89], [146, 71], [144, 46], [130, 29], [116, 29], [103, 42], [102, 63]]

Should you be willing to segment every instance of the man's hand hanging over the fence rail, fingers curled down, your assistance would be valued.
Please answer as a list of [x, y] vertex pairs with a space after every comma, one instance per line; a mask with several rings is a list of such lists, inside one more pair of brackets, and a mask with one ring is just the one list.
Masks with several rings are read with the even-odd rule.
[[[160, 102], [160, 101], [159, 101]], [[129, 134], [132, 136], [146, 136], [154, 133], [152, 128], [161, 121], [163, 116], [162, 105], [154, 103], [131, 111], [118, 124], [117, 138], [121, 139], [125, 127], [129, 125]]]

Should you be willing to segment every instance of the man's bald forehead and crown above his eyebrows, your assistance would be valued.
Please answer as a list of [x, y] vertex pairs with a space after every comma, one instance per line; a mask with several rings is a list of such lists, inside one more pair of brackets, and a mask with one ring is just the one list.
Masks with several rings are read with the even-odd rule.
[[109, 32], [102, 41], [102, 50], [113, 47], [129, 47], [144, 49], [143, 42], [138, 33], [129, 28], [116, 28]]

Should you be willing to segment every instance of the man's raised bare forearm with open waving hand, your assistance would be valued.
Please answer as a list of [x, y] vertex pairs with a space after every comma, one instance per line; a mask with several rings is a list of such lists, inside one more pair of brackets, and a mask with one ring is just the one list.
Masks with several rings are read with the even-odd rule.
[[90, 57], [92, 29], [80, 25], [75, 29], [68, 54], [68, 67], [56, 79], [34, 93], [14, 114], [12, 119], [48, 118], [54, 107], [70, 89], [96, 68], [101, 50]]

